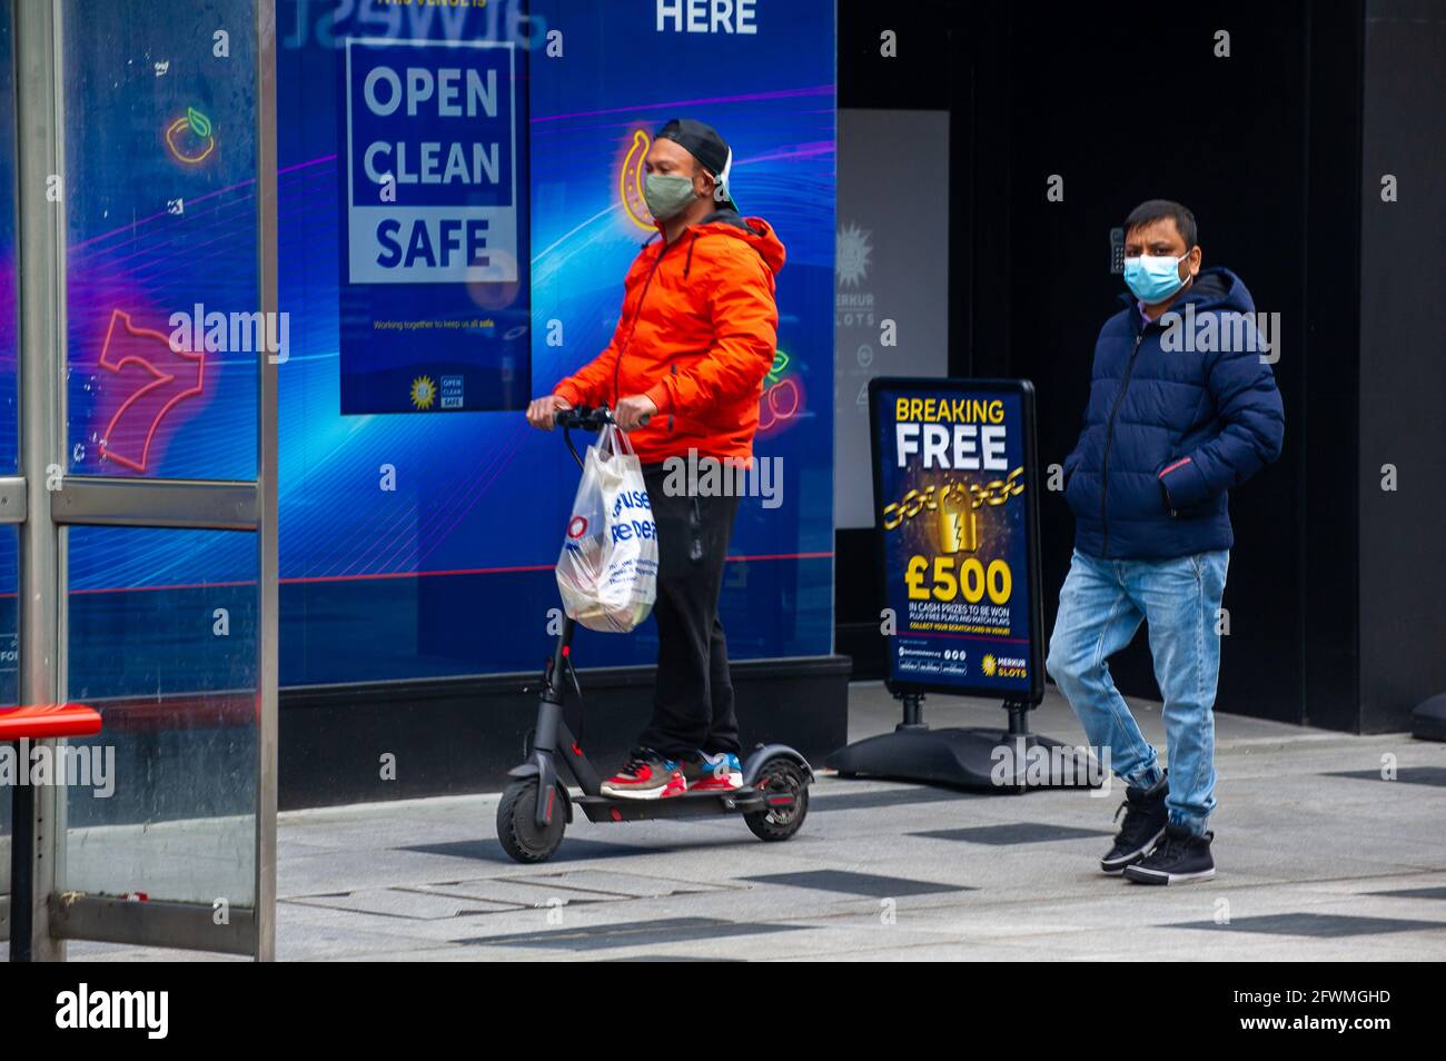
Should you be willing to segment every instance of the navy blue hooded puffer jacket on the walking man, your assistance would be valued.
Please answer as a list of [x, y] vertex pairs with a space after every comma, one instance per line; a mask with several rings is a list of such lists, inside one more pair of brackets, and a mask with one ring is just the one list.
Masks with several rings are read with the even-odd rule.
[[[1064, 458], [1074, 546], [1105, 559], [1228, 549], [1228, 491], [1280, 455], [1285, 432], [1254, 317], [1239, 317], [1255, 302], [1229, 269], [1202, 269], [1148, 325], [1134, 298], [1121, 298], [1095, 344], [1084, 429]], [[1196, 341], [1180, 350], [1187, 306]]]

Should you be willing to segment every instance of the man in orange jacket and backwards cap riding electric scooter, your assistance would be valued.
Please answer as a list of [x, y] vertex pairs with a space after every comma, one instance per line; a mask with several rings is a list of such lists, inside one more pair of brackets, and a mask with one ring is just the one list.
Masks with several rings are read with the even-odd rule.
[[603, 782], [613, 798], [742, 785], [719, 620], [737, 496], [703, 494], [685, 486], [694, 477], [668, 474], [680, 463], [752, 463], [763, 377], [774, 364], [774, 275], [784, 244], [762, 218], [739, 215], [729, 194], [732, 162], [727, 143], [701, 121], [675, 119], [656, 132], [643, 158], [643, 199], [662, 239], [649, 239], [628, 270], [607, 348], [528, 406], [528, 422], [545, 431], [561, 409], [610, 406], [642, 461], [658, 525], [652, 720]]

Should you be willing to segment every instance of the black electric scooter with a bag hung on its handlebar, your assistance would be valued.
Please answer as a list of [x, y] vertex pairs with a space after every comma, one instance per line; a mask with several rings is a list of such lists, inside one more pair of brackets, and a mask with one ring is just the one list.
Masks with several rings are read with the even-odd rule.
[[[609, 409], [578, 406], [557, 413], [555, 424], [573, 460], [583, 458], [570, 431], [599, 431], [612, 424]], [[655, 799], [613, 798], [602, 794], [602, 778], [562, 718], [562, 698], [571, 687], [578, 700], [583, 690], [573, 669], [571, 617], [562, 629], [542, 674], [536, 727], [526, 746], [526, 762], [509, 770], [512, 782], [497, 805], [497, 840], [522, 863], [544, 862], [562, 843], [562, 833], [580, 807], [589, 821], [620, 822], [654, 818], [693, 818], [742, 814], [759, 840], [792, 837], [808, 814], [808, 785], [813, 769], [787, 744], [759, 744], [743, 762], [743, 785], [732, 791], [700, 791]], [[573, 795], [558, 770], [561, 763], [581, 795]]]

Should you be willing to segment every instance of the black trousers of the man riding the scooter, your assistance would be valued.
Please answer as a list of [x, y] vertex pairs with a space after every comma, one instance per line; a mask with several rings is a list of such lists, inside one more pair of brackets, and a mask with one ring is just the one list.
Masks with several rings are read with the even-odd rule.
[[694, 496], [664, 490], [661, 464], [643, 465], [658, 523], [658, 685], [652, 720], [638, 739], [668, 757], [740, 752], [727, 642], [719, 620], [723, 561], [736, 494]]

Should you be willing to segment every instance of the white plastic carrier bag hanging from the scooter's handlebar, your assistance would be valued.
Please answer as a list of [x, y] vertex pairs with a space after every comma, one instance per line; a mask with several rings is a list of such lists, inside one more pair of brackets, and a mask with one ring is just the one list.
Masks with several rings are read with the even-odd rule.
[[587, 447], [557, 559], [562, 609], [589, 630], [628, 633], [658, 594], [658, 525], [642, 465], [612, 424]]

